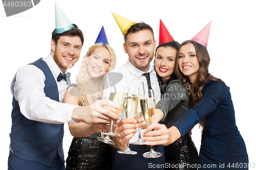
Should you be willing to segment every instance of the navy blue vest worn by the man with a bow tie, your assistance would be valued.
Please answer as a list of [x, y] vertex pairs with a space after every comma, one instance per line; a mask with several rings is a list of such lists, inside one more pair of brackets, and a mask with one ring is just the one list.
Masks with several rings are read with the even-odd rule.
[[[46, 96], [59, 102], [58, 87], [47, 63], [39, 59], [31, 65], [35, 65], [45, 74], [44, 91]], [[47, 166], [51, 165], [56, 154], [64, 160], [62, 148], [63, 124], [47, 124], [29, 120], [20, 112], [18, 102], [14, 98], [12, 107], [10, 147], [14, 155]]]

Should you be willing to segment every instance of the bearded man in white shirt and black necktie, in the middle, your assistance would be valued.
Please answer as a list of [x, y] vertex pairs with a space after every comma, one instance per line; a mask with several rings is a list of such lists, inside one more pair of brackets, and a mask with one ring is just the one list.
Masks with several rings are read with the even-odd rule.
[[[113, 14], [114, 15], [114, 14]], [[114, 15], [115, 17], [115, 15]], [[120, 27], [120, 26], [119, 26]], [[125, 28], [125, 27], [124, 27]], [[122, 31], [122, 30], [121, 30]], [[129, 60], [119, 68], [113, 69], [111, 72], [119, 72], [125, 77], [117, 85], [129, 86], [131, 82], [143, 81], [147, 84], [147, 78], [145, 74], [149, 74], [151, 84], [148, 84], [148, 88], [152, 88], [155, 91], [156, 103], [160, 100], [160, 88], [158, 85], [156, 71], [150, 62], [154, 58], [154, 51], [156, 50], [156, 40], [154, 39], [153, 29], [144, 22], [134, 23], [127, 29], [124, 35], [123, 49], [129, 56]], [[108, 99], [110, 91], [103, 91], [103, 100]], [[120, 117], [124, 117], [121, 113]], [[134, 120], [125, 118], [117, 124], [115, 133], [120, 135], [120, 138], [115, 138], [115, 147], [124, 150], [126, 142], [133, 136], [130, 143], [137, 141], [138, 132], [136, 130], [136, 122]], [[144, 130], [141, 130], [144, 133]], [[130, 136], [130, 137], [128, 137]], [[149, 169], [150, 164], [164, 164], [164, 150], [163, 146], [159, 145], [155, 151], [160, 151], [163, 155], [159, 158], [148, 159], [143, 157], [143, 153], [148, 152], [147, 145], [133, 145], [130, 144], [130, 149], [136, 151], [136, 155], [119, 154], [118, 149], [112, 151], [112, 169]], [[150, 168], [154, 169], [154, 168]]]

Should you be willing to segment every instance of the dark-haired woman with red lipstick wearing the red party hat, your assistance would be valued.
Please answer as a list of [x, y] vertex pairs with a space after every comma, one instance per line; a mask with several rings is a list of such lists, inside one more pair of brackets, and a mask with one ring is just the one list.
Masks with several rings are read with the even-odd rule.
[[[162, 120], [159, 124], [156, 124], [155, 129], [168, 132], [168, 128], [172, 127], [189, 107], [188, 96], [186, 95], [187, 90], [177, 80], [174, 73], [179, 43], [174, 41], [173, 38], [162, 37], [162, 34], [172, 37], [160, 20], [160, 38], [155, 52], [155, 69], [162, 94], [161, 100], [156, 105], [156, 117], [158, 122]], [[167, 40], [162, 41], [161, 37]], [[168, 40], [173, 41], [166, 42]], [[172, 144], [163, 136], [158, 136], [157, 140], [159, 138], [160, 140], [162, 139], [161, 144], [164, 145], [165, 163], [170, 165], [167, 169], [180, 169], [179, 165], [184, 163], [198, 163], [198, 152], [188, 131], [183, 138], [178, 139]]]

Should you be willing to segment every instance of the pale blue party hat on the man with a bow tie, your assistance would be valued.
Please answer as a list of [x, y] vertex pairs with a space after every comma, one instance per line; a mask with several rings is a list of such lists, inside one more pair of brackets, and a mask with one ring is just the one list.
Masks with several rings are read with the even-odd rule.
[[55, 3], [55, 32], [57, 34], [74, 28], [67, 16], [61, 11], [59, 6]]

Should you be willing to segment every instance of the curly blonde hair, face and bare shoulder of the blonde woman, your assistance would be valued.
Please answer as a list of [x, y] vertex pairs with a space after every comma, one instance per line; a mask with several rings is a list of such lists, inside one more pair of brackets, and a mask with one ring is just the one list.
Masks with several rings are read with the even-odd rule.
[[[103, 50], [102, 52], [106, 52], [107, 55], [108, 53], [110, 53], [110, 59], [105, 59], [95, 55], [101, 49]], [[103, 67], [106, 67], [105, 70], [99, 71], [96, 67], [93, 67], [92, 65], [88, 66], [89, 61], [97, 62], [99, 60], [102, 60]], [[92, 67], [91, 69], [88, 68], [90, 66]], [[97, 93], [98, 97], [102, 98], [102, 90], [106, 78], [106, 73], [110, 72], [115, 67], [116, 55], [111, 46], [109, 46], [108, 44], [96, 43], [89, 47], [89, 51], [86, 53], [86, 56], [83, 56], [83, 60], [81, 61], [81, 66], [79, 67], [79, 72], [76, 80], [76, 84], [79, 89], [79, 95], [82, 95], [79, 97], [80, 106], [88, 106], [92, 104], [96, 99], [96, 95], [94, 93]], [[89, 98], [89, 96], [91, 97]]]

